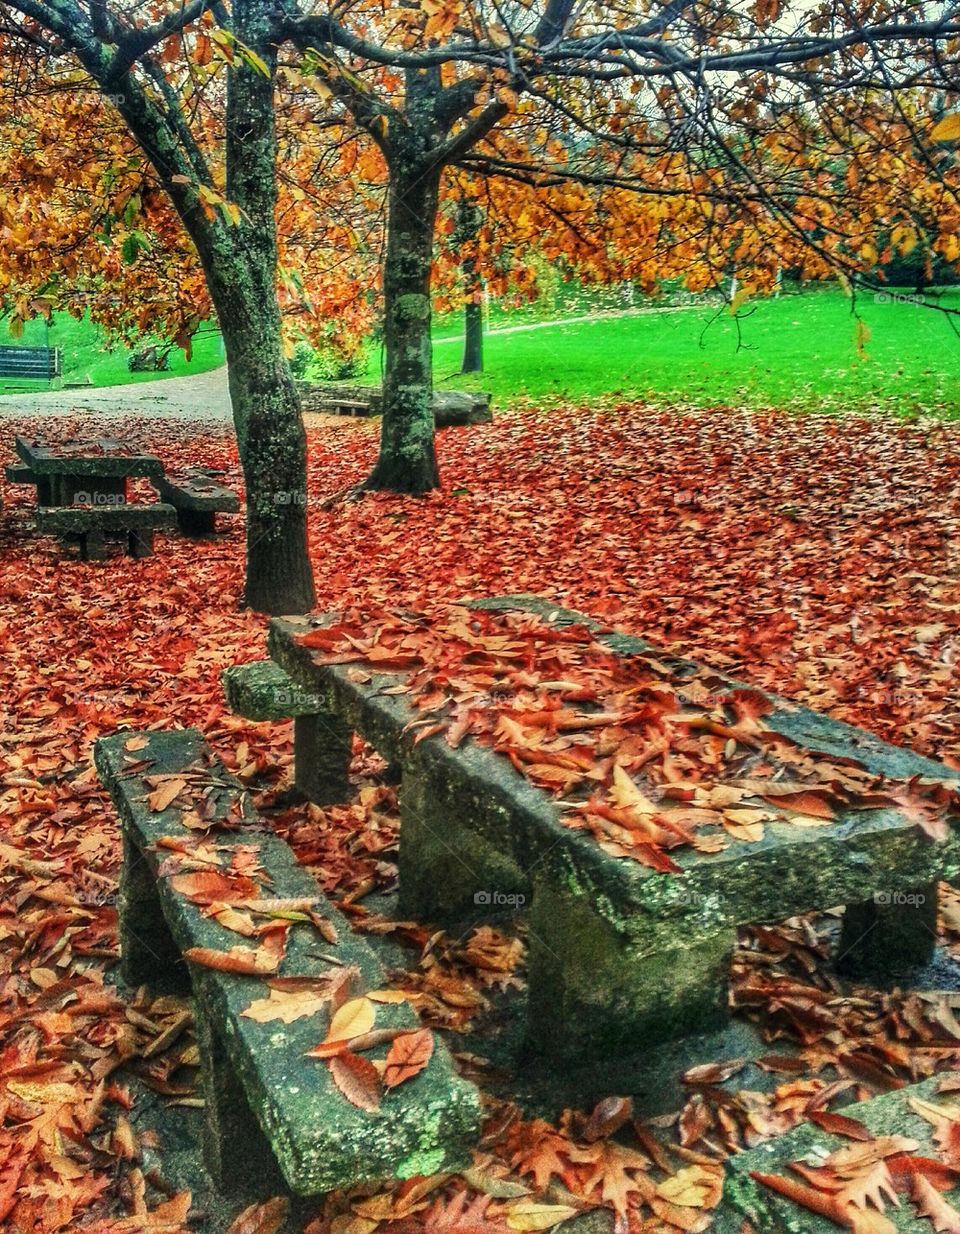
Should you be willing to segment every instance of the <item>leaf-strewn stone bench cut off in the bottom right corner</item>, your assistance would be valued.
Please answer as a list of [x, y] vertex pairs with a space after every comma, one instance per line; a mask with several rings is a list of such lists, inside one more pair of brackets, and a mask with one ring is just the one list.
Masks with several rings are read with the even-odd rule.
[[[922, 1083], [845, 1106], [839, 1113], [863, 1123], [874, 1137], [903, 1135], [917, 1140], [918, 1146], [909, 1154], [911, 1156], [941, 1161], [941, 1154], [933, 1143], [933, 1125], [911, 1107], [911, 1099], [928, 1102], [932, 1106], [956, 1107], [958, 1095], [940, 1093], [939, 1082], [940, 1077], [934, 1076]], [[790, 1169], [791, 1161], [816, 1166], [832, 1153], [856, 1146], [867, 1148], [867, 1144], [858, 1144], [846, 1137], [829, 1134], [813, 1123], [802, 1123], [769, 1144], [761, 1144], [748, 1153], [730, 1157], [726, 1167], [723, 1199], [711, 1225], [712, 1234], [744, 1234], [744, 1230], [754, 1230], [755, 1234], [837, 1234], [839, 1223], [793, 1203], [751, 1175], [775, 1175], [805, 1186], [805, 1180]], [[945, 1176], [949, 1180], [949, 1171], [945, 1171]], [[954, 1186], [945, 1193], [945, 1198], [955, 1208], [960, 1208], [960, 1186]], [[934, 1228], [946, 1228], [934, 1227], [922, 1219], [914, 1206], [902, 1197], [901, 1207], [896, 1208], [888, 1203], [883, 1215], [892, 1222], [892, 1229], [898, 1234], [900, 1232], [933, 1234]], [[864, 1228], [876, 1229], [875, 1225]]]

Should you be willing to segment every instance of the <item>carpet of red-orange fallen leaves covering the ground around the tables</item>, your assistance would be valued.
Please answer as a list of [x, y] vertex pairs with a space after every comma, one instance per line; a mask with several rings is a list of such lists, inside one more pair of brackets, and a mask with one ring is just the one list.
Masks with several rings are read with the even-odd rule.
[[[38, 426], [5, 423], [5, 459], [15, 427]], [[105, 427], [57, 423], [64, 436]], [[160, 421], [123, 432], [169, 470], [202, 462], [239, 486], [227, 436]], [[960, 766], [956, 429], [569, 408], [448, 431], [439, 449], [442, 492], [353, 501], [371, 427], [311, 428], [320, 607], [538, 592]], [[196, 1046], [183, 1002], [111, 983], [120, 854], [91, 742], [127, 726], [201, 728], [374, 932], [394, 929], [362, 901], [395, 879], [395, 790], [358, 747], [349, 805], [276, 805], [288, 726], [227, 714], [218, 682], [225, 665], [263, 655], [263, 618], [238, 607], [239, 520], [210, 542], [158, 537], [146, 561], [86, 565], [35, 534], [30, 497], [7, 486], [0, 520], [0, 1220], [16, 1234], [202, 1228], [189, 1197], [142, 1167], [136, 1091], [196, 1103]], [[956, 943], [949, 896], [941, 924]], [[405, 987], [454, 1049], [491, 992], [522, 981], [522, 946], [495, 930], [397, 933], [411, 944]], [[705, 1059], [682, 1111], [653, 1123], [634, 1125], [617, 1095], [557, 1125], [491, 1098], [471, 1171], [332, 1197], [311, 1234], [506, 1234], [596, 1206], [624, 1232], [706, 1229], [728, 1153], [960, 1060], [956, 996], [850, 997], [826, 958], [807, 921], [743, 938], [733, 996], [769, 1035], [772, 1091], [738, 1090], [739, 1060]], [[465, 1065], [482, 1082], [480, 1062]], [[262, 1234], [276, 1213], [242, 1220]]]

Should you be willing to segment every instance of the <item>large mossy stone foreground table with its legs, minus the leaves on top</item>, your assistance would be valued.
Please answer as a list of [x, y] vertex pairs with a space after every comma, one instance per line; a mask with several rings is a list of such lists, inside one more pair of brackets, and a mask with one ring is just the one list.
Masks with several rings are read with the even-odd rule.
[[[475, 607], [590, 624], [532, 597]], [[453, 922], [519, 906], [529, 929], [531, 1038], [539, 1050], [616, 1056], [723, 1023], [738, 926], [846, 905], [840, 954], [851, 971], [880, 966], [879, 976], [890, 976], [929, 956], [935, 881], [960, 874], [956, 827], [934, 843], [900, 810], [877, 808], [802, 828], [770, 806], [774, 821], [761, 842], [734, 839], [716, 853], [677, 849], [671, 856], [680, 872], [660, 874], [565, 826], [555, 800], [505, 755], [471, 740], [453, 749], [442, 735], [417, 742], [408, 726], [421, 717], [396, 692], [397, 674], [320, 663], [300, 642], [313, 624], [325, 618], [274, 619], [269, 650], [323, 702], [318, 714], [337, 749], [348, 749], [355, 731], [400, 765], [401, 912]], [[701, 671], [642, 639], [598, 637], [619, 655], [655, 654], [681, 677]], [[714, 680], [721, 691], [742, 687], [721, 674]], [[802, 747], [854, 760], [871, 775], [959, 782], [929, 759], [771, 701], [765, 723]], [[337, 784], [342, 770], [331, 772], [332, 792]]]

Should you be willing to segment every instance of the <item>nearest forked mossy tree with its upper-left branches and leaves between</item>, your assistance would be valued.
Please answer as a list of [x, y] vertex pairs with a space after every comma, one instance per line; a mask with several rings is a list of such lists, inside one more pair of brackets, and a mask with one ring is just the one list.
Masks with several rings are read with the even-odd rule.
[[[78, 85], [95, 84], [190, 236], [230, 363], [247, 487], [246, 600], [262, 611], [300, 612], [315, 592], [305, 434], [276, 295], [271, 10], [264, 0], [234, 0], [220, 28], [211, 9], [194, 0], [148, 20], [99, 2], [88, 10], [75, 0], [10, 0], [0, 15], [7, 53], [26, 46], [38, 69], [54, 74], [69, 57], [83, 70]], [[226, 67], [215, 62], [215, 39]], [[209, 107], [223, 89], [222, 110]]]

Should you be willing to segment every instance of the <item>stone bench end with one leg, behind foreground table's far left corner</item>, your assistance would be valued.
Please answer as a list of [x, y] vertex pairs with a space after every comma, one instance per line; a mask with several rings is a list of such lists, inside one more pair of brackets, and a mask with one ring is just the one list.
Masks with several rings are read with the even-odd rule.
[[220, 680], [227, 706], [255, 722], [294, 721], [294, 785], [317, 806], [336, 806], [349, 796], [347, 771], [352, 735], [331, 726], [323, 700], [301, 689], [279, 664], [234, 664]]

